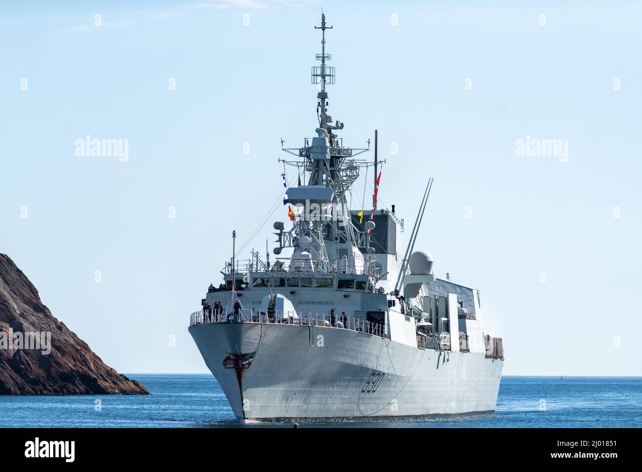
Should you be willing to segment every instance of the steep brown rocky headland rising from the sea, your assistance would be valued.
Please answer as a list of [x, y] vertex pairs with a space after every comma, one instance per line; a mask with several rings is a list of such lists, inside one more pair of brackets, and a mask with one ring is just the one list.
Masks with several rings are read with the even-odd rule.
[[105, 365], [56, 320], [22, 270], [0, 254], [0, 394], [149, 392]]

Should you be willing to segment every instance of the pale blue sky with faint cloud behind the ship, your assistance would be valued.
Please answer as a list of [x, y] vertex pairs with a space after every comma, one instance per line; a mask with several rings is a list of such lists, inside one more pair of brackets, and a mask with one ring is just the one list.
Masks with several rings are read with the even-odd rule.
[[[481, 290], [504, 373], [642, 374], [639, 2], [3, 2], [0, 252], [53, 314], [118, 371], [207, 371], [189, 313], [278, 197], [279, 140], [313, 135], [321, 7], [340, 135], [379, 129], [411, 229], [435, 177], [415, 247]], [[128, 161], [76, 157], [85, 135]], [[516, 157], [526, 135], [568, 162]]]

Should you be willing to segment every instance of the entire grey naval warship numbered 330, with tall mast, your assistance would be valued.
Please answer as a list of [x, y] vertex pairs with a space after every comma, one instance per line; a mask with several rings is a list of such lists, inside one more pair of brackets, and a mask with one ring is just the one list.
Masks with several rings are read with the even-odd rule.
[[[480, 292], [436, 277], [431, 255], [414, 250], [432, 179], [404, 249], [394, 205], [377, 207], [377, 166], [385, 161], [377, 161], [376, 134], [368, 161], [357, 156], [370, 141], [351, 148], [335, 133], [343, 123], [328, 114], [326, 87], [335, 74], [325, 32], [332, 26], [322, 15], [315, 28], [322, 34], [320, 66], [311, 71], [318, 123], [300, 148], [281, 142], [295, 158], [279, 159], [290, 221], [288, 229], [273, 224], [275, 261], [267, 250], [265, 259], [252, 250], [239, 260], [233, 232], [223, 281], [210, 284], [189, 333], [239, 421], [492, 412], [503, 347], [482, 330]], [[299, 177], [294, 186], [286, 165]], [[351, 187], [363, 173], [369, 182], [369, 168], [372, 209], [363, 202], [351, 209]]]

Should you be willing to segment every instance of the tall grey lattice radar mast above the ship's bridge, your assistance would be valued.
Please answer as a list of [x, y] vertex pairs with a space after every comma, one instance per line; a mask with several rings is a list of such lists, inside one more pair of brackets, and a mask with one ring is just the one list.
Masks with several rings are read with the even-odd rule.
[[[328, 114], [327, 85], [334, 84], [335, 74], [334, 67], [327, 64], [332, 56], [325, 51], [325, 30], [331, 29], [333, 26], [327, 25], [322, 13], [321, 26], [315, 25], [315, 30], [321, 30], [321, 53], [315, 55], [320, 66], [311, 68], [311, 83], [317, 86], [316, 135], [306, 138], [300, 148], [284, 148], [282, 144], [282, 150], [300, 159], [282, 162], [296, 166], [304, 177], [308, 173], [304, 185], [299, 183], [298, 187], [287, 191], [289, 202], [299, 211], [290, 217], [293, 224], [290, 231], [283, 231], [279, 222], [274, 226], [279, 230], [276, 233], [279, 247], [275, 247], [275, 254], [281, 254], [285, 247], [292, 247], [299, 254], [309, 252], [317, 270], [333, 266], [342, 257], [354, 259], [358, 247], [367, 248], [367, 233], [352, 223], [347, 194], [358, 179], [360, 170], [373, 165], [369, 161], [354, 159], [370, 150], [370, 140], [367, 148], [344, 147], [343, 139], [333, 132], [342, 130], [343, 123], [333, 121]], [[320, 207], [321, 211], [315, 212], [315, 207]], [[302, 208], [304, 211], [301, 213]]]

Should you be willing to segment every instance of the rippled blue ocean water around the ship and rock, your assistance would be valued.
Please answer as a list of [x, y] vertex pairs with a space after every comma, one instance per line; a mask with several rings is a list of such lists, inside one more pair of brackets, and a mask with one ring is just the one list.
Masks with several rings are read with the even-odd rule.
[[[0, 396], [1, 427], [254, 427], [234, 420], [210, 374], [127, 374], [151, 396]], [[100, 406], [100, 408], [98, 408]], [[503, 377], [492, 414], [426, 421], [326, 423], [394, 428], [642, 427], [640, 377]], [[324, 423], [315, 423], [325, 426]], [[261, 424], [265, 426], [265, 424]], [[272, 425], [272, 426], [284, 426]], [[290, 427], [290, 424], [287, 425]], [[301, 424], [305, 427], [306, 424]]]

